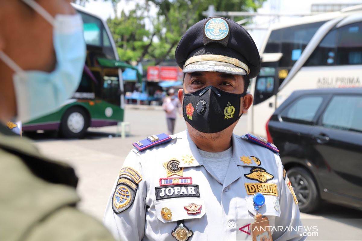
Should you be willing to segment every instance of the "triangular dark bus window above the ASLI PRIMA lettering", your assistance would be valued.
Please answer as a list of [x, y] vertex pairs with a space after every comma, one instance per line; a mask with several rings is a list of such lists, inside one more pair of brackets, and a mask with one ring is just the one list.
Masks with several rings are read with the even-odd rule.
[[318, 44], [304, 66], [326, 66], [334, 64], [337, 30], [329, 32]]

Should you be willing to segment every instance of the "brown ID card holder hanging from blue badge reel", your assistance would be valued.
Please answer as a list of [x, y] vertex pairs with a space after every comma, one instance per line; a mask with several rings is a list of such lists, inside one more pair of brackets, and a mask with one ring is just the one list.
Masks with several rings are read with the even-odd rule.
[[268, 218], [262, 218], [261, 214], [256, 215], [256, 221], [251, 224], [253, 241], [273, 241], [270, 233]]

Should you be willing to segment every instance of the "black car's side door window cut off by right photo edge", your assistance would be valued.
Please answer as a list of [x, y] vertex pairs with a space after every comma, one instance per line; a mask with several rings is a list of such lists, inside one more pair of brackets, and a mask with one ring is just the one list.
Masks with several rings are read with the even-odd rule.
[[362, 132], [362, 96], [334, 96], [322, 117], [327, 128]]

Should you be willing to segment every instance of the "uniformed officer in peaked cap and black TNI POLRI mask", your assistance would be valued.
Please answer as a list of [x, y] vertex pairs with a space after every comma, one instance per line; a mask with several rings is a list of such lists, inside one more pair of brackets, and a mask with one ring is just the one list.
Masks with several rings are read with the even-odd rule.
[[206, 18], [190, 27], [175, 55], [185, 73], [178, 98], [187, 130], [133, 143], [106, 227], [123, 240], [305, 239], [277, 147], [232, 133], [253, 101], [249, 79], [260, 71], [251, 36], [236, 22]]

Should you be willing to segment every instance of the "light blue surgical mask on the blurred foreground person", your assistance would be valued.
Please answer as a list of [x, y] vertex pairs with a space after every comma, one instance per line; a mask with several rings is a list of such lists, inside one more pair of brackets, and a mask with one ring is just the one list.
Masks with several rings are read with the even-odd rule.
[[[22, 0], [53, 26], [55, 70], [23, 70], [0, 51], [0, 60], [14, 70], [17, 121], [30, 121], [55, 111], [77, 90], [86, 56], [83, 21], [79, 14], [52, 17], [34, 0]], [[24, 36], [26, 37], [26, 36]], [[26, 54], [26, 53], [24, 53]], [[34, 56], [37, 61], [37, 56]]]

